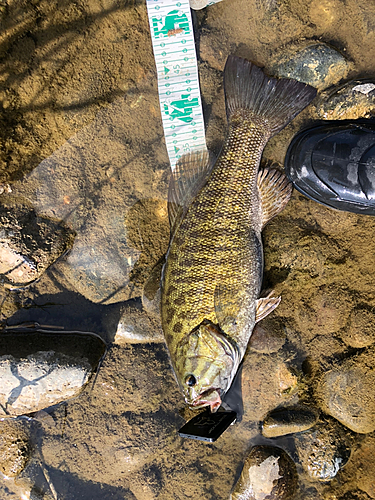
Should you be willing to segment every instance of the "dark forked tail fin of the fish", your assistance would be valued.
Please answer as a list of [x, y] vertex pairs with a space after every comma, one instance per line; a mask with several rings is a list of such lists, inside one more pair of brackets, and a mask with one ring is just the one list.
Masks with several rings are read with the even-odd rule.
[[228, 120], [235, 111], [263, 117], [272, 135], [284, 128], [316, 96], [316, 89], [288, 78], [270, 78], [255, 64], [229, 56], [224, 70]]

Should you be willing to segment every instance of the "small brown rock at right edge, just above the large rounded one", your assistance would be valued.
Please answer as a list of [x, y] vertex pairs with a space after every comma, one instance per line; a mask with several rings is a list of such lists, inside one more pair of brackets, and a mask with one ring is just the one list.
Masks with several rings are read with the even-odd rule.
[[375, 343], [375, 314], [368, 309], [355, 309], [341, 338], [347, 345], [356, 348]]

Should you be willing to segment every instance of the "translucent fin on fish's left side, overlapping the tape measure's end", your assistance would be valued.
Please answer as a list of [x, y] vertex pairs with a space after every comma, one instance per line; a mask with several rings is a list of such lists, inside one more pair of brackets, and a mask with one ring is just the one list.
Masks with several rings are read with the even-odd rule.
[[207, 181], [214, 163], [215, 158], [207, 150], [187, 153], [178, 160], [168, 192], [168, 214], [172, 232]]

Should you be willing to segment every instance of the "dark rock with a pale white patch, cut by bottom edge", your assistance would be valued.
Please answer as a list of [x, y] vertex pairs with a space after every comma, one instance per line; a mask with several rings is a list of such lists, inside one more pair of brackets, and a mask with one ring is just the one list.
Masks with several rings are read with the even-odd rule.
[[293, 460], [281, 448], [254, 446], [245, 460], [231, 500], [287, 500], [297, 488]]

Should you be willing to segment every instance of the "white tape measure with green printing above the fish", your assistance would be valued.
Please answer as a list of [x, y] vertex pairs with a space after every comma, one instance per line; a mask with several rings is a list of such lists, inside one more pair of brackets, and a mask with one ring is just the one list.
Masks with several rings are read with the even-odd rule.
[[165, 142], [174, 170], [184, 153], [206, 149], [188, 0], [146, 0]]

